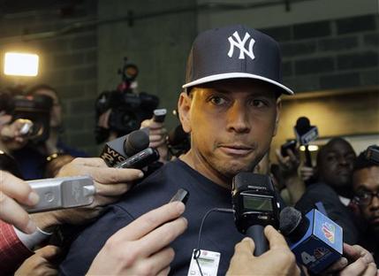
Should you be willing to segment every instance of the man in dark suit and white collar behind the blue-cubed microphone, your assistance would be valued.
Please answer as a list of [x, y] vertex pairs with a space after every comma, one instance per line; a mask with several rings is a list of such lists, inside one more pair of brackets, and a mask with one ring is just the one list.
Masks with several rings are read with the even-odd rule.
[[[344, 242], [356, 244], [360, 233], [357, 219], [348, 206], [352, 199], [352, 167], [355, 152], [343, 138], [333, 138], [317, 154], [318, 182], [307, 187], [295, 207], [304, 213], [325, 212], [344, 229]], [[320, 209], [321, 208], [321, 209]]]

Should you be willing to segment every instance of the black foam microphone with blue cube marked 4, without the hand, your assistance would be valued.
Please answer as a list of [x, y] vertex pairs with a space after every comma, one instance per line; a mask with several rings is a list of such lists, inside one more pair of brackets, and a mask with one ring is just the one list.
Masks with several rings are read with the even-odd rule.
[[305, 217], [285, 207], [280, 212], [280, 232], [296, 259], [314, 273], [324, 271], [342, 257], [342, 227], [315, 209]]

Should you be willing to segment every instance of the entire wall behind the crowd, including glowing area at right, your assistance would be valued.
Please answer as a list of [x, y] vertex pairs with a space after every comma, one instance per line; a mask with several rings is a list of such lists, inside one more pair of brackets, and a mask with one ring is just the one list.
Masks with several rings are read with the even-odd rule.
[[378, 12], [377, 0], [1, 0], [0, 64], [5, 52], [28, 52], [39, 69], [16, 77], [2, 68], [0, 88], [57, 88], [64, 142], [97, 155], [95, 99], [117, 88], [125, 57], [139, 68], [138, 91], [169, 111], [170, 129], [194, 37], [241, 23], [280, 43], [284, 84], [297, 93], [284, 97], [274, 148], [306, 116], [316, 144], [344, 136], [360, 152], [379, 142]]

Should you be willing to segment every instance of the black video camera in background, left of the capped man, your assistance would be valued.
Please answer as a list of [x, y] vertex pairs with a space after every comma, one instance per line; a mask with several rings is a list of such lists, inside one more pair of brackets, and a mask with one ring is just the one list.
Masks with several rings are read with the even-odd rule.
[[153, 116], [153, 111], [159, 104], [159, 98], [145, 92], [134, 93], [137, 88], [135, 79], [139, 73], [138, 67], [128, 64], [124, 58], [124, 66], [118, 70], [122, 75], [122, 82], [117, 90], [104, 91], [96, 99], [96, 119], [105, 111], [110, 111], [108, 125], [110, 131], [117, 132], [118, 136], [131, 133], [140, 128], [144, 119]]

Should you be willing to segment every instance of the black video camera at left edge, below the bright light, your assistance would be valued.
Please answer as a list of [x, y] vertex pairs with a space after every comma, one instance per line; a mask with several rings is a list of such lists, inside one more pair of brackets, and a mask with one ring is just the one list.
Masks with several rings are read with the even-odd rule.
[[49, 96], [21, 96], [2, 93], [0, 111], [12, 116], [12, 121], [23, 119], [26, 123], [21, 131], [33, 142], [43, 142], [49, 138], [50, 110], [53, 99]]

